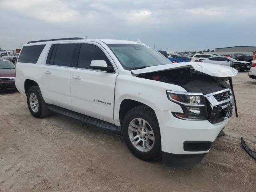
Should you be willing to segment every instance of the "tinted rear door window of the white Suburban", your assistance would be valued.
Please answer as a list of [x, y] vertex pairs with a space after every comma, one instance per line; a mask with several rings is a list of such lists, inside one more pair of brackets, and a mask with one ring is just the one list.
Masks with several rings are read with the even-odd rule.
[[[52, 52], [52, 58], [55, 53], [55, 57], [53, 60], [53, 65], [58, 65], [58, 66], [66, 66], [70, 67], [73, 65], [73, 54], [75, 50], [76, 44], [58, 44], [58, 46], [54, 46], [54, 50]], [[51, 61], [52, 61], [51, 58]], [[51, 64], [52, 62], [50, 62]]]

